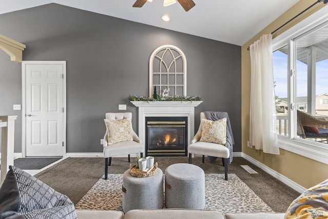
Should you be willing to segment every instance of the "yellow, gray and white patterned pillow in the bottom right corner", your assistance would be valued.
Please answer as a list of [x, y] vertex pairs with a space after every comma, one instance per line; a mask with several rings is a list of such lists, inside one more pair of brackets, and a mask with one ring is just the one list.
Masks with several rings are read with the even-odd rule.
[[328, 218], [328, 179], [298, 196], [285, 214], [289, 218]]

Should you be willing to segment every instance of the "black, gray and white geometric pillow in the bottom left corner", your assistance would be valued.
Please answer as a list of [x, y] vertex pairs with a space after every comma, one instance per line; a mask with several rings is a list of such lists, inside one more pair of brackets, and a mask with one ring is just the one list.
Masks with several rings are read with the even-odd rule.
[[0, 188], [0, 218], [77, 218], [71, 200], [34, 176], [9, 166]]

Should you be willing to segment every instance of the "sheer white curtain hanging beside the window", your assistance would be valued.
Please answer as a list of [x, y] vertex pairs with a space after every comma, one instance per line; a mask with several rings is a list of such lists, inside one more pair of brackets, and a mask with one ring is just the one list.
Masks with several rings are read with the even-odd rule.
[[250, 142], [265, 153], [279, 154], [271, 42], [270, 33], [250, 46]]

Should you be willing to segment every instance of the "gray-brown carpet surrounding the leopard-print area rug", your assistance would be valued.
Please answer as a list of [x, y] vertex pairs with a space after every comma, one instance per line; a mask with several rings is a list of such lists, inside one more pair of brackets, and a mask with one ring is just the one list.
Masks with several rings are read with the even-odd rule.
[[[210, 162], [206, 158], [204, 164], [201, 163], [201, 157], [195, 157], [192, 161], [205, 173], [224, 173], [221, 159]], [[155, 162], [160, 169], [165, 170], [171, 164], [188, 163], [188, 157], [155, 157]], [[58, 192], [66, 194], [74, 204], [77, 204], [104, 174], [104, 163], [105, 159], [100, 157], [69, 157], [35, 176]], [[258, 174], [250, 174], [240, 165], [249, 165]], [[112, 165], [108, 167], [108, 173], [123, 174], [129, 167], [128, 158], [114, 157]], [[234, 157], [232, 164], [229, 165], [229, 173], [235, 173], [275, 212], [285, 212], [292, 201], [300, 195], [242, 157]]]

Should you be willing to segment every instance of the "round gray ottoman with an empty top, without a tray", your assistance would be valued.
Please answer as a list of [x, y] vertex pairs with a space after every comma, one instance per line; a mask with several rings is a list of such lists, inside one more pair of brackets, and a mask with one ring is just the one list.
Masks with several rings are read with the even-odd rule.
[[205, 174], [192, 164], [173, 164], [165, 170], [167, 208], [204, 209]]

